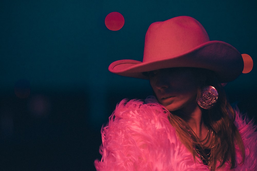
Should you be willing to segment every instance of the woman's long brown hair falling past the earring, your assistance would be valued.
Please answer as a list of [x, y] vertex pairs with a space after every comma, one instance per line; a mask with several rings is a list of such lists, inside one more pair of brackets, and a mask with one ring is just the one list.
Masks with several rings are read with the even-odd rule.
[[[204, 124], [212, 129], [213, 134], [215, 135], [215, 147], [212, 154], [211, 163], [212, 170], [215, 170], [217, 161], [220, 162], [218, 168], [222, 167], [226, 161], [231, 164], [231, 168], [235, 168], [237, 166], [235, 160], [235, 143], [237, 143], [243, 156], [241, 163], [244, 162], [245, 157], [243, 141], [238, 129], [234, 124], [235, 112], [231, 105], [227, 102], [224, 89], [219, 83], [218, 77], [214, 72], [201, 68], [194, 68], [192, 71], [196, 74], [196, 78], [199, 78], [199, 82], [201, 82], [196, 98], [200, 96], [200, 87], [206, 85], [214, 86], [219, 94], [215, 107], [212, 109], [204, 109], [202, 115]], [[176, 131], [181, 142], [195, 157], [197, 154], [194, 148], [196, 144], [200, 144], [199, 140], [193, 131], [189, 131], [191, 128], [185, 122], [185, 120], [177, 116], [175, 113], [170, 113], [170, 123], [176, 127]]]

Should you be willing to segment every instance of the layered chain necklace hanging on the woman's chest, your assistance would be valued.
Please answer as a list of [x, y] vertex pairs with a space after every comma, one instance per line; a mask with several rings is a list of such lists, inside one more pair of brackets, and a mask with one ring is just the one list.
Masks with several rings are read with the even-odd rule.
[[[203, 161], [203, 164], [207, 165], [209, 170], [211, 170], [213, 150], [214, 150], [214, 147], [216, 146], [215, 135], [213, 134], [213, 130], [212, 130], [212, 133], [210, 133], [210, 131], [208, 130], [207, 136], [203, 140], [199, 140], [199, 143], [200, 143], [199, 145], [195, 146], [194, 150], [197, 153], [197, 156], [200, 158], [200, 160]], [[203, 148], [208, 143], [210, 143], [209, 147]]]

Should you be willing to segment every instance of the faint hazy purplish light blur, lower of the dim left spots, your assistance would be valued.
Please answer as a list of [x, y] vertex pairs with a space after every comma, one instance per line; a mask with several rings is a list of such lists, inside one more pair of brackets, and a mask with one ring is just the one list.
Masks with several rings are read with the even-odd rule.
[[29, 112], [34, 117], [45, 117], [50, 113], [49, 99], [43, 95], [37, 95], [29, 101]]

